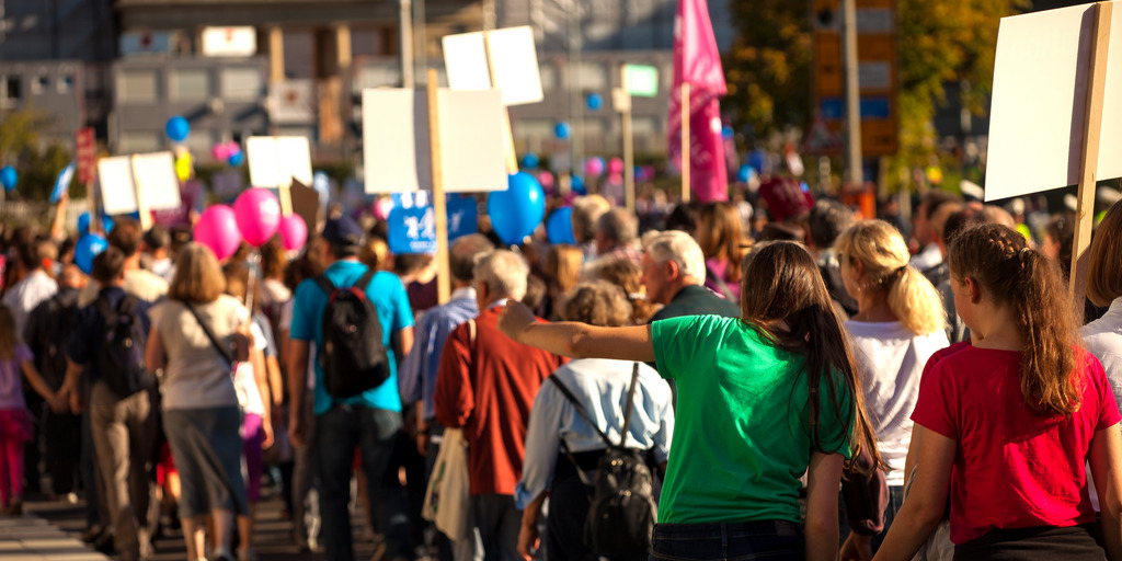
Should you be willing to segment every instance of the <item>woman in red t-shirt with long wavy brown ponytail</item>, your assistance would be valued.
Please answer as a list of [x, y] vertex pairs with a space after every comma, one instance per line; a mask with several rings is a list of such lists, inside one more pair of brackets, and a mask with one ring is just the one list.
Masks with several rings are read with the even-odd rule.
[[[1076, 346], [1059, 269], [1006, 227], [950, 247], [971, 329], [932, 358], [912, 413], [912, 491], [875, 561], [911, 559], [950, 496], [955, 559], [1122, 559], [1122, 435], [1102, 366]], [[1104, 506], [1102, 540], [1085, 463]]]

